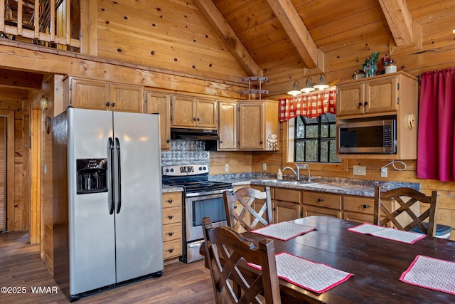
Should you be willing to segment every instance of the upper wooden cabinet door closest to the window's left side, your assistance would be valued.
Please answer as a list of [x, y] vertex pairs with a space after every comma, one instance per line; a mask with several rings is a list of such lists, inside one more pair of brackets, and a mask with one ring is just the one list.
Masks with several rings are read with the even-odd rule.
[[239, 150], [264, 150], [264, 103], [239, 103]]

